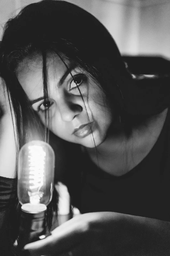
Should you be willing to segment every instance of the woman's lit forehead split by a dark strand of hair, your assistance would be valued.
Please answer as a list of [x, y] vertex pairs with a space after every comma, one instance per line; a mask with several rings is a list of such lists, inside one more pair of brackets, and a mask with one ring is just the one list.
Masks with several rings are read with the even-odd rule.
[[[46, 66], [48, 82], [51, 87], [63, 76], [67, 68], [58, 56], [52, 54], [47, 56]], [[17, 69], [18, 80], [30, 100], [34, 99], [35, 96], [43, 96], [42, 67], [42, 56], [35, 55], [23, 60]]]

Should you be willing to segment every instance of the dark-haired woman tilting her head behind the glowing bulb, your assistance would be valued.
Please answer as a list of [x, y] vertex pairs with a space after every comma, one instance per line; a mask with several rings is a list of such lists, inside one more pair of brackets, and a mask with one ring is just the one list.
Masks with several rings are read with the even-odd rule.
[[83, 213], [25, 254], [168, 255], [169, 78], [133, 79], [99, 21], [53, 0], [7, 22], [0, 69], [21, 119], [19, 92], [63, 140], [57, 178]]

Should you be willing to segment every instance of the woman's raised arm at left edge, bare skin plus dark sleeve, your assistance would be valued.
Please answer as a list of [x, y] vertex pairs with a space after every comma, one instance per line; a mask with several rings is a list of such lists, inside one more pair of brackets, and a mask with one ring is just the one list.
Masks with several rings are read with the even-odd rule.
[[16, 175], [15, 119], [13, 125], [12, 115], [7, 88], [0, 77], [0, 255], [12, 255], [17, 232], [14, 210], [17, 181], [13, 179]]

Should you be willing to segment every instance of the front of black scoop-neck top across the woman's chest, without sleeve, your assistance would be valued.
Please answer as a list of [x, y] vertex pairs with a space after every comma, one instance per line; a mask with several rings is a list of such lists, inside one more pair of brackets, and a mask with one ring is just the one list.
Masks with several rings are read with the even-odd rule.
[[68, 186], [81, 213], [111, 211], [170, 221], [170, 111], [149, 154], [125, 175], [104, 172], [87, 155], [78, 165], [81, 186]]

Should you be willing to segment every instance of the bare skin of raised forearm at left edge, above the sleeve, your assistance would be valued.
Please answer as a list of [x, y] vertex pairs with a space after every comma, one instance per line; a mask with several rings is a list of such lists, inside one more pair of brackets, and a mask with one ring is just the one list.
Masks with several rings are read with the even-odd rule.
[[[11, 105], [12, 107], [12, 105]], [[12, 123], [12, 116], [14, 124]], [[11, 113], [5, 82], [0, 77], [0, 176], [16, 176], [15, 118]]]

